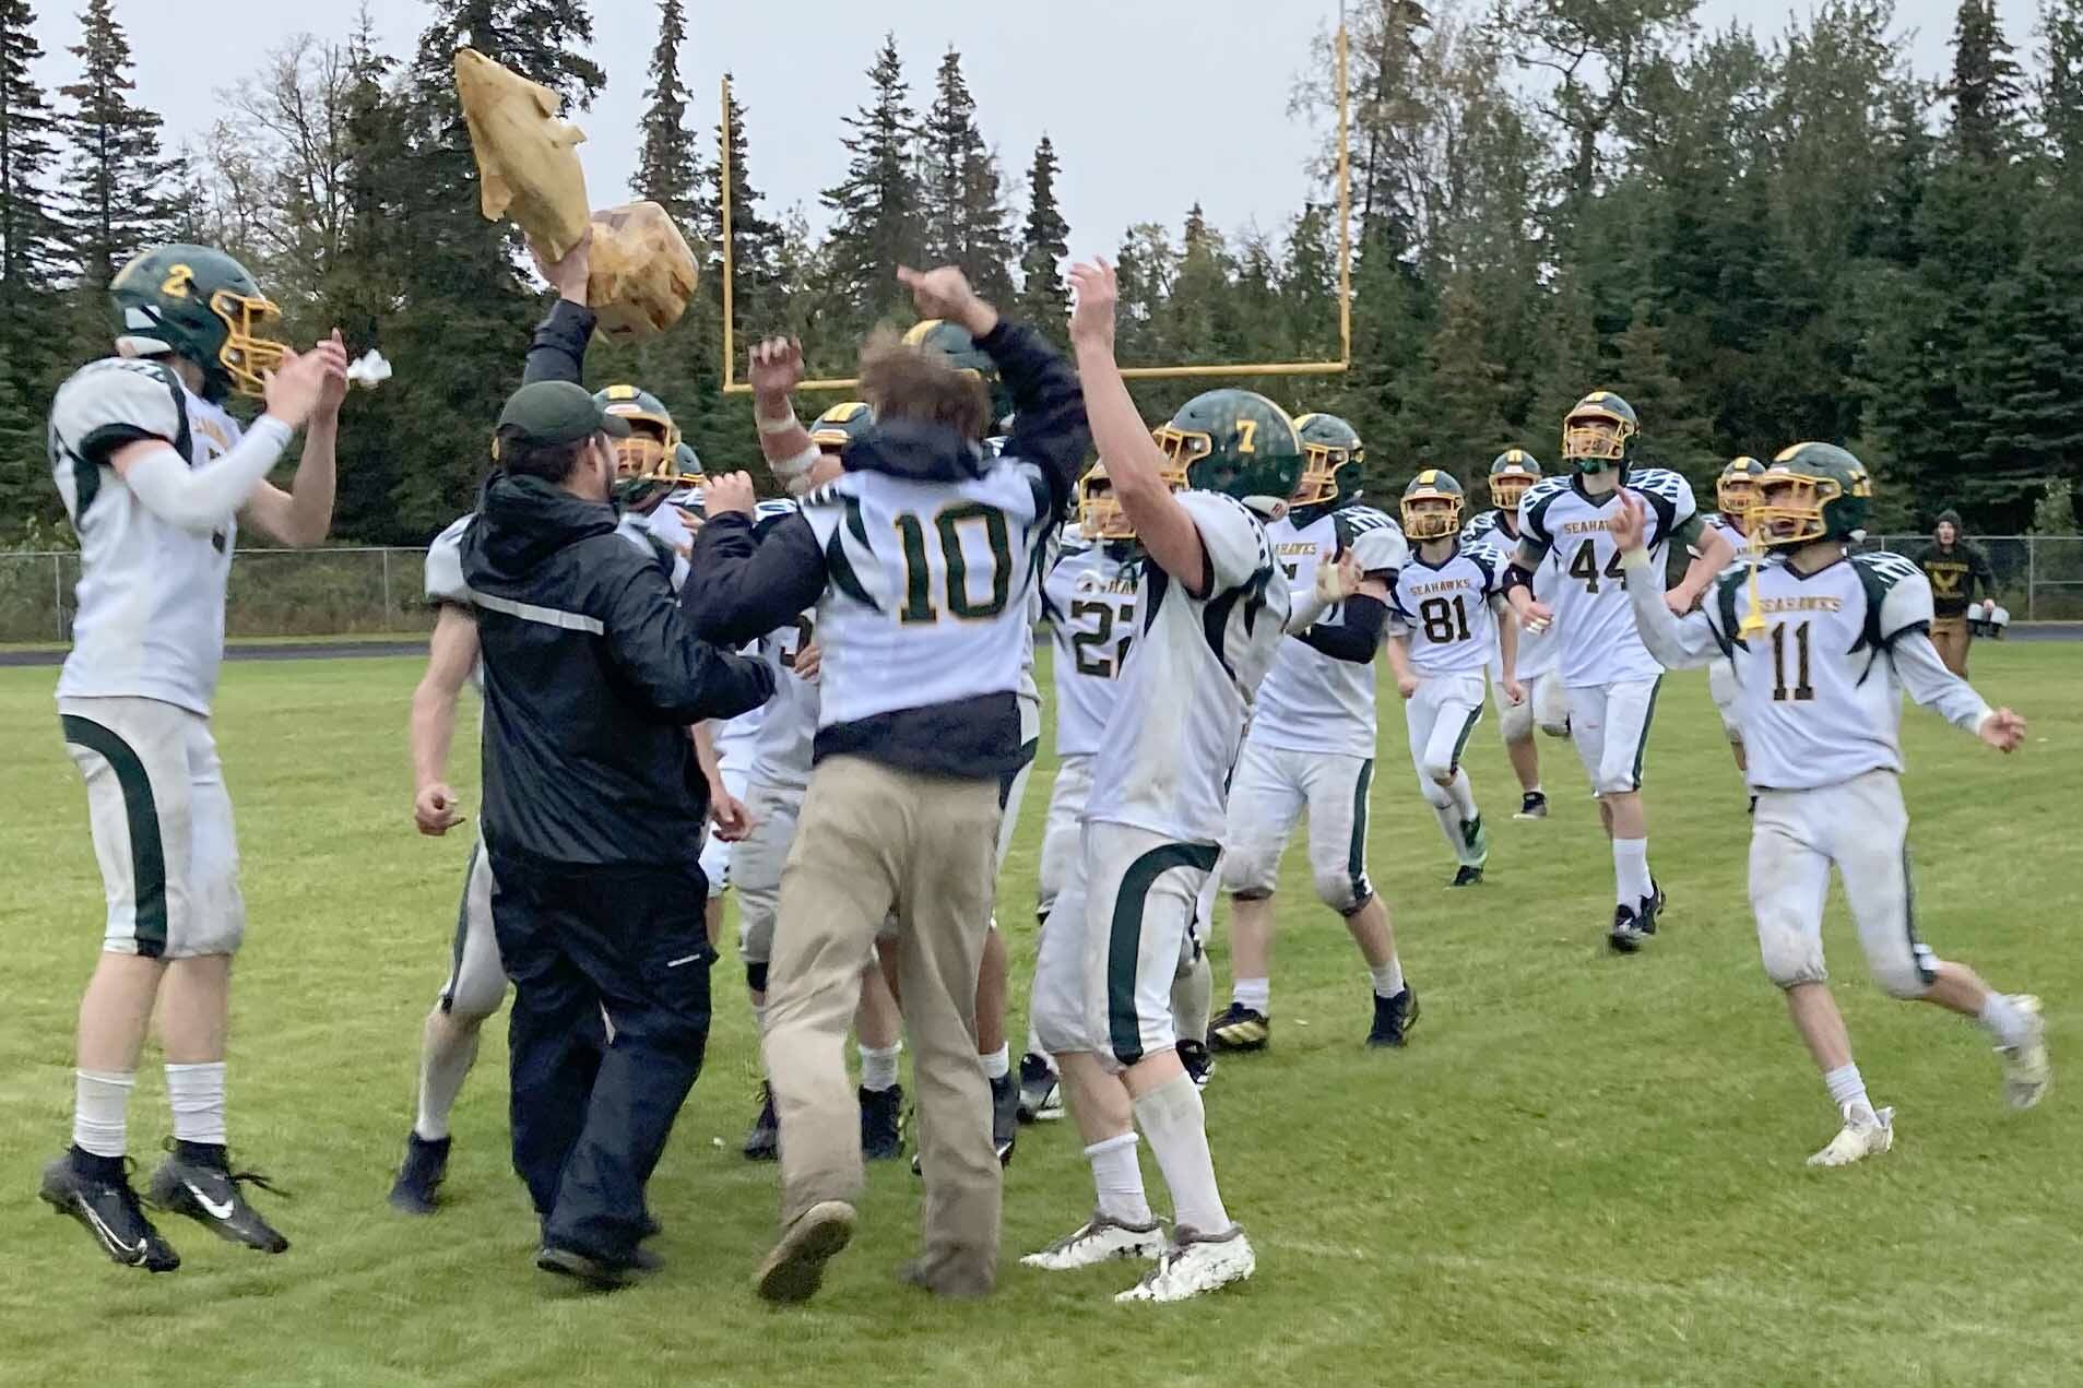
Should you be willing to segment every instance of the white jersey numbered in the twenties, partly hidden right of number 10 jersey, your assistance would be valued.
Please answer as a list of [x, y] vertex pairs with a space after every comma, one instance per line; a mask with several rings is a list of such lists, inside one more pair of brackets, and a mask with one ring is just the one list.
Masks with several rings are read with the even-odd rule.
[[1121, 669], [1135, 642], [1135, 586], [1144, 561], [1133, 544], [1064, 536], [1044, 581], [1056, 679], [1056, 754], [1091, 757], [1121, 696]]

